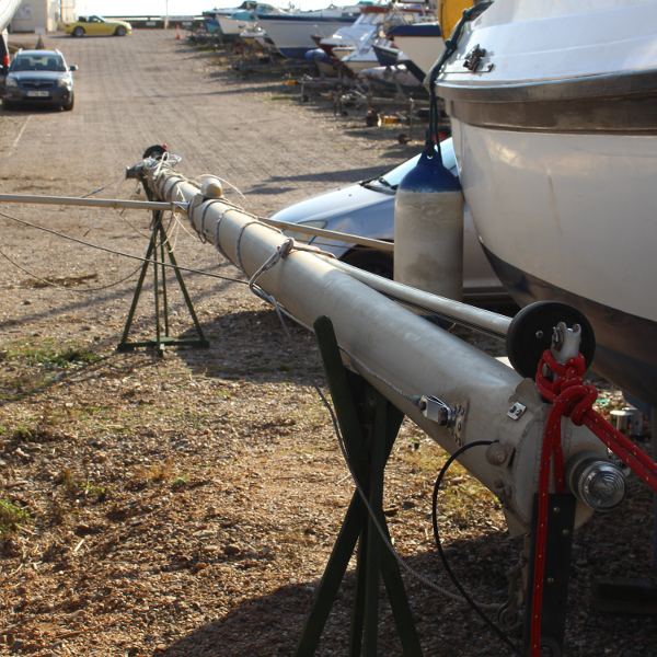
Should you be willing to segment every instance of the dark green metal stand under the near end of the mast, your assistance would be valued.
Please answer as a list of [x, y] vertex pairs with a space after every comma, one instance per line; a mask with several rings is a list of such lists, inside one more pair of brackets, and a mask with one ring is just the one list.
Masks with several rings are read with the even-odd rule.
[[[319, 318], [314, 330], [350, 469], [368, 497], [379, 527], [390, 540], [382, 507], [383, 475], [404, 415], [367, 381], [345, 369], [328, 318]], [[377, 656], [382, 578], [403, 654], [420, 656], [422, 647], [397, 562], [384, 544], [358, 491], [351, 497], [295, 655], [314, 655], [356, 543], [356, 597], [349, 655]]]

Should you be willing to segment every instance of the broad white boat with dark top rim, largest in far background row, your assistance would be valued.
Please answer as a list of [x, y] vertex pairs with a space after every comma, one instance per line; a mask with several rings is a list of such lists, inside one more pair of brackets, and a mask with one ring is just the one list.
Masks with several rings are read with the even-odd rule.
[[353, 24], [359, 12], [354, 8], [322, 9], [285, 14], [257, 13], [258, 25], [289, 59], [303, 59], [315, 47], [313, 35], [331, 36], [341, 27]]

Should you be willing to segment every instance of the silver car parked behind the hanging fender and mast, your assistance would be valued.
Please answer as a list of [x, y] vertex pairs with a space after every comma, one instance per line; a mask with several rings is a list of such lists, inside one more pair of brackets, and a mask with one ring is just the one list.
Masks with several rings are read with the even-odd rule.
[[[458, 175], [451, 139], [442, 141], [441, 151], [446, 166]], [[419, 154], [379, 177], [297, 203], [276, 212], [272, 219], [392, 242], [396, 187], [406, 173], [415, 166], [418, 158]], [[315, 237], [308, 240], [308, 235], [295, 233], [292, 230], [286, 231], [286, 234], [330, 251], [350, 265], [392, 278], [391, 253], [325, 238]], [[464, 298], [477, 302], [506, 302], [508, 295], [486, 260], [468, 208], [464, 215], [463, 238]]]

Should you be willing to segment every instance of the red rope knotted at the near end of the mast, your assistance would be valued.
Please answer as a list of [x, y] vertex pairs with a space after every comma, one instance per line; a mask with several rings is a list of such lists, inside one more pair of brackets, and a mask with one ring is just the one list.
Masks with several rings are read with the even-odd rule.
[[546, 401], [552, 402], [552, 410], [543, 434], [539, 471], [539, 504], [531, 598], [531, 657], [541, 655], [548, 503], [552, 468], [554, 468], [554, 489], [562, 493], [565, 488], [565, 465], [561, 443], [562, 418], [569, 417], [573, 424], [588, 427], [641, 480], [657, 491], [657, 463], [646, 452], [638, 449], [630, 438], [593, 411], [592, 405], [598, 399], [598, 390], [595, 385], [584, 383], [585, 371], [586, 362], [581, 354], [561, 364], [550, 349], [543, 353], [537, 370], [537, 388]]

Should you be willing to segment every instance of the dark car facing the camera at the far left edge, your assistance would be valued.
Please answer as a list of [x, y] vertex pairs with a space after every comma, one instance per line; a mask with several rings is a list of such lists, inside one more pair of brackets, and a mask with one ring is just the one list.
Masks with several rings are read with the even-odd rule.
[[76, 100], [72, 71], [59, 50], [19, 50], [9, 66], [2, 105], [13, 110], [23, 103], [72, 110]]

